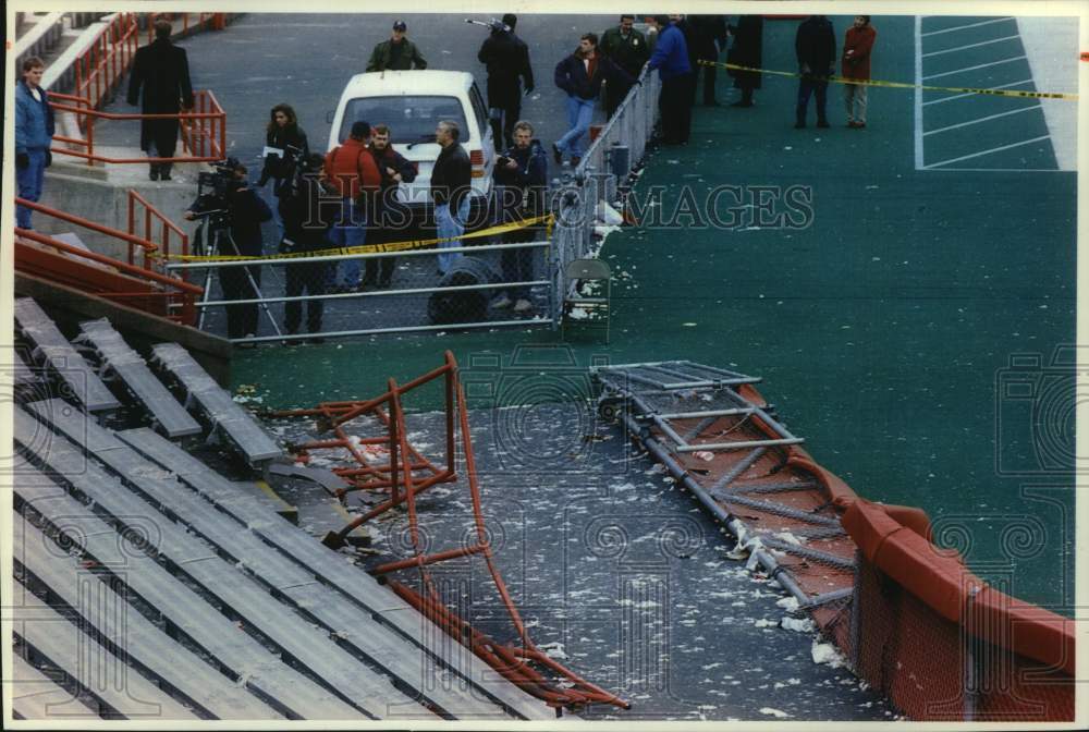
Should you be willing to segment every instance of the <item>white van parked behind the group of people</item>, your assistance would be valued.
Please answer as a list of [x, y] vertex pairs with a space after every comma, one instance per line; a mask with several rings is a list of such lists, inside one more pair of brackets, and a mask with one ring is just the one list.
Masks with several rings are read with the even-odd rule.
[[[480, 207], [487, 210], [492, 192], [495, 146], [488, 107], [473, 81], [463, 71], [384, 71], [356, 74], [344, 87], [332, 119], [329, 149], [345, 139], [357, 120], [387, 124], [393, 148], [416, 166], [416, 180], [402, 183], [399, 199], [414, 218], [430, 212], [431, 168], [441, 148], [435, 142], [439, 120], [453, 120], [461, 129], [462, 147], [473, 163], [470, 221], [481, 222]], [[430, 219], [427, 216], [427, 219]]]

